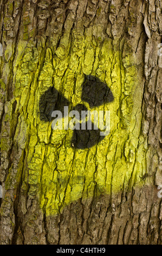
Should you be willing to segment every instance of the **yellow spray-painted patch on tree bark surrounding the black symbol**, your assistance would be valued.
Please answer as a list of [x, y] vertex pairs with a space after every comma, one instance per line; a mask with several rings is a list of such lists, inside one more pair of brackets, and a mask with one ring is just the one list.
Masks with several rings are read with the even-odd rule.
[[[128, 53], [122, 59], [111, 39], [100, 42], [88, 30], [80, 40], [73, 34], [70, 52], [62, 44], [56, 52], [46, 49], [43, 38], [37, 48], [32, 42], [20, 42], [14, 70], [19, 120], [14, 141], [26, 153], [28, 193], [38, 196], [47, 215], [92, 197], [96, 187], [98, 194], [131, 188], [146, 170], [147, 144], [140, 136], [142, 91], [133, 56]], [[51, 123], [40, 120], [38, 104], [51, 86], [74, 106], [82, 103], [81, 84], [89, 74], [107, 83], [114, 95], [113, 102], [91, 109], [110, 111], [111, 132], [98, 145], [81, 150], [70, 145], [72, 131], [54, 131]]]

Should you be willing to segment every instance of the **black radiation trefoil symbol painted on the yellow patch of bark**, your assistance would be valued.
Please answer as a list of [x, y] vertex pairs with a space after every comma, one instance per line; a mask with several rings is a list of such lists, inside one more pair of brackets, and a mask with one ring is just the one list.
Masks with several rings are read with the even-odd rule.
[[[88, 102], [89, 107], [99, 107], [103, 103], [112, 102], [114, 96], [111, 89], [107, 84], [101, 82], [99, 78], [95, 76], [85, 76], [85, 81], [82, 83], [82, 96], [81, 100]], [[54, 87], [50, 87], [43, 95], [40, 97], [39, 110], [40, 119], [45, 122], [52, 121], [54, 118], [51, 117], [51, 113], [55, 110], [61, 111], [62, 115], [64, 112], [64, 106], [72, 108], [81, 114], [81, 111], [87, 111], [85, 105], [78, 104], [75, 107], [71, 106], [72, 103], [69, 102], [66, 97], [59, 93]], [[100, 136], [100, 129], [94, 130], [94, 124], [92, 122], [92, 130], [73, 130], [72, 143], [73, 147], [76, 149], [86, 149], [91, 148], [95, 144], [102, 141], [105, 136]]]

